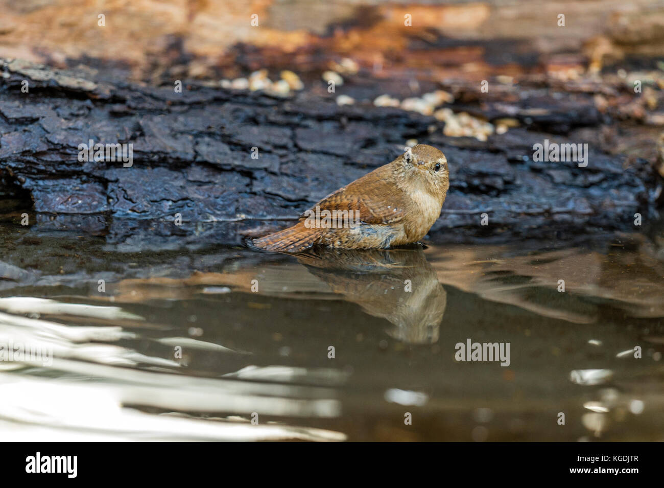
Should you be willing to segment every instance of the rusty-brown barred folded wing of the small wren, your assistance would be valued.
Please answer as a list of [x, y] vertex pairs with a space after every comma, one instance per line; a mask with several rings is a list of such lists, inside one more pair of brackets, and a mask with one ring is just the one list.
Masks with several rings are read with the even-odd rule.
[[404, 191], [394, 185], [391, 172], [380, 167], [331, 193], [311, 208], [357, 210], [366, 224], [393, 224], [406, 215]]

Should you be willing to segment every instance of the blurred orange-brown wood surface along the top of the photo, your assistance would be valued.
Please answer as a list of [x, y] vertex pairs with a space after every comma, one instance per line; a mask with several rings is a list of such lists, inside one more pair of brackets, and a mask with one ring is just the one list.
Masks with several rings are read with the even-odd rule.
[[[664, 0], [2, 0], [0, 8], [0, 56], [125, 66], [143, 79], [263, 67], [319, 76], [329, 60], [351, 56], [364, 68], [380, 64], [383, 76], [481, 80], [541, 72], [556, 53], [580, 53], [598, 68], [664, 52]], [[406, 14], [412, 27], [404, 26]]]

